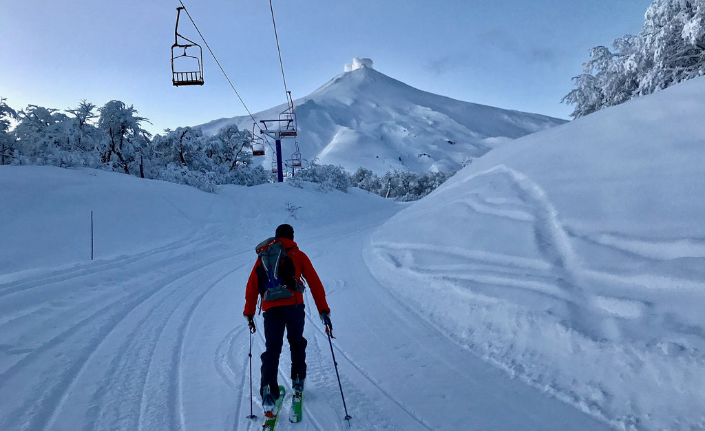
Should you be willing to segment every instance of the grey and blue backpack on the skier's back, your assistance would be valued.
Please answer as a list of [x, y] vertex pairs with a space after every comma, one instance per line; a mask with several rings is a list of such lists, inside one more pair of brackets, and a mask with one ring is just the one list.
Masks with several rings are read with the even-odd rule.
[[296, 280], [293, 260], [276, 238], [267, 238], [257, 244], [255, 251], [261, 263], [256, 272], [262, 301], [291, 298], [293, 291], [304, 291], [305, 286]]

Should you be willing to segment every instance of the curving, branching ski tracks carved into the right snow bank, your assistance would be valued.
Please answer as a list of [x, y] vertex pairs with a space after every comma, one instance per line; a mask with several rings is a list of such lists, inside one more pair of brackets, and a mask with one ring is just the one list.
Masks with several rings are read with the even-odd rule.
[[[544, 190], [527, 176], [506, 166], [496, 166], [489, 171], [465, 179], [490, 183], [493, 179], [503, 181], [513, 190], [516, 200], [481, 198], [471, 195], [462, 201], [470, 212], [486, 214], [498, 219], [508, 219], [532, 225], [534, 245], [543, 257], [533, 261], [517, 256], [474, 253], [460, 247], [440, 247], [423, 243], [376, 242], [379, 250], [386, 250], [386, 258], [400, 267], [403, 253], [448, 255], [449, 262], [462, 262], [458, 265], [404, 265], [405, 270], [421, 277], [442, 277], [455, 281], [456, 286], [470, 285], [477, 292], [497, 295], [497, 289], [507, 291], [527, 291], [534, 296], [544, 296], [550, 301], [562, 303], [568, 310], [570, 324], [594, 338], [601, 334], [594, 327], [582, 324], [584, 313], [614, 312], [613, 303], [624, 298], [602, 296], [601, 301], [589, 301], [584, 291], [586, 274], [572, 250], [568, 229], [560, 223], [556, 210], [546, 197]], [[497, 180], [495, 180], [497, 181]], [[457, 185], [455, 186], [457, 187]], [[424, 259], [418, 259], [423, 262]], [[602, 305], [606, 305], [602, 307]], [[637, 305], [637, 304], [635, 304]], [[600, 309], [596, 309], [595, 307]], [[638, 306], [638, 305], [637, 305]]]

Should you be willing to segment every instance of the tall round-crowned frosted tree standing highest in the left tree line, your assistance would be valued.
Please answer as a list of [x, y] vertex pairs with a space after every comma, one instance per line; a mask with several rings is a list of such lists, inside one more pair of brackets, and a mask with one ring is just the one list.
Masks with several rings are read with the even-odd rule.
[[137, 157], [137, 147], [135, 147], [137, 139], [130, 139], [130, 137], [150, 136], [149, 132], [142, 128], [142, 122], [147, 119], [135, 116], [137, 110], [119, 100], [111, 100], [104, 107], [99, 108], [99, 111], [98, 127], [108, 136], [100, 150], [102, 162], [112, 165], [113, 155], [115, 155], [118, 162], [114, 167], [119, 167], [125, 171], [125, 174], [130, 174], [130, 164], [133, 164]]

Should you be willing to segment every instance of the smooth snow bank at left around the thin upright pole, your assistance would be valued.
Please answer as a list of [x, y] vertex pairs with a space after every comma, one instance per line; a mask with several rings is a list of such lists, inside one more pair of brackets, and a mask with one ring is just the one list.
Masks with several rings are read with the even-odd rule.
[[94, 256], [109, 258], [192, 235], [212, 206], [195, 188], [94, 169], [1, 166], [0, 184], [0, 274], [90, 260], [91, 212]]

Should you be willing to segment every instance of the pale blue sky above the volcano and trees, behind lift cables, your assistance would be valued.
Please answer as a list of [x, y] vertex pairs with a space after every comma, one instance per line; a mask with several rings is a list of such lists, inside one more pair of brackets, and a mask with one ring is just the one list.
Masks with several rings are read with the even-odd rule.
[[[183, 0], [255, 113], [286, 102], [268, 0]], [[288, 90], [308, 95], [354, 57], [420, 90], [568, 119], [588, 50], [636, 34], [651, 0], [273, 0]], [[134, 105], [164, 128], [245, 115], [203, 45], [205, 85], [171, 85], [178, 0], [0, 0], [0, 96], [67, 109]]]

